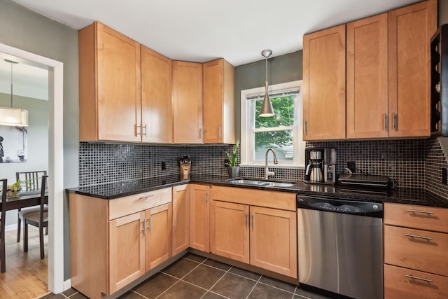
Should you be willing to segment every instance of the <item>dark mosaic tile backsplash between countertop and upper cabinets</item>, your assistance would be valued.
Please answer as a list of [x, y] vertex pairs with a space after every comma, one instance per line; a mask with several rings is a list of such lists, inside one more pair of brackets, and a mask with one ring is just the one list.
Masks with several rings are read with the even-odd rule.
[[[307, 142], [307, 147], [335, 147], [337, 173], [355, 161], [359, 171], [394, 179], [399, 187], [427, 188], [448, 198], [442, 185], [442, 167], [448, 167], [435, 138], [375, 141]], [[92, 186], [128, 179], [179, 174], [179, 160], [190, 155], [193, 174], [227, 176], [225, 152], [232, 145], [154, 146], [141, 144], [92, 144], [80, 142], [79, 185]], [[165, 169], [162, 169], [165, 162]], [[302, 181], [304, 169], [269, 167], [275, 179]], [[264, 167], [241, 167], [240, 176], [262, 178]]]

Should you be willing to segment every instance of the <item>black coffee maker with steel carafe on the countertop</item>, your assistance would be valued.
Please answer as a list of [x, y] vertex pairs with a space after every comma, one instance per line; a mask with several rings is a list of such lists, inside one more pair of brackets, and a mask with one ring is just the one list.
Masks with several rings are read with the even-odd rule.
[[336, 183], [336, 148], [305, 148], [305, 183]]

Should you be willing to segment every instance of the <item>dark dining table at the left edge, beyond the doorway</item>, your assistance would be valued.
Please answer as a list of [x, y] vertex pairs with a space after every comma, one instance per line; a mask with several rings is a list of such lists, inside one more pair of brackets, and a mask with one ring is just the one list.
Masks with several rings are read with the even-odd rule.
[[[6, 248], [5, 248], [5, 227], [6, 227], [6, 211], [13, 209], [22, 209], [26, 207], [34, 207], [40, 204], [41, 190], [33, 190], [20, 192], [18, 196], [6, 197], [3, 202], [0, 197], [1, 209], [1, 225], [0, 225], [0, 272], [6, 272]], [[48, 203], [48, 193], [45, 192], [45, 203]]]

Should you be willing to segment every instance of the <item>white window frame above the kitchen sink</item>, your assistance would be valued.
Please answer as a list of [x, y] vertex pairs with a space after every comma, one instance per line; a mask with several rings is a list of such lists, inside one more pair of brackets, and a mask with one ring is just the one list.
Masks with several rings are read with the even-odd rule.
[[[292, 81], [288, 83], [281, 83], [276, 85], [269, 86], [269, 94], [299, 89], [299, 96], [295, 99], [295, 107], [297, 107], [297, 115], [295, 116], [295, 126], [293, 128], [293, 134], [297, 136], [297, 140], [295, 141], [295, 152], [293, 161], [279, 161], [277, 167], [293, 167], [293, 168], [303, 168], [304, 167], [304, 148], [305, 142], [303, 141], [303, 133], [302, 133], [302, 80], [300, 81]], [[240, 166], [255, 166], [255, 167], [264, 167], [265, 162], [254, 161], [251, 160], [251, 151], [253, 151], [253, 140], [251, 134], [251, 128], [249, 127], [248, 120], [250, 120], [249, 113], [251, 111], [246, 110], [246, 103], [248, 98], [264, 95], [265, 87], [260, 88], [252, 88], [250, 90], [241, 90], [241, 164]], [[288, 127], [285, 127], [287, 130]], [[272, 164], [272, 157], [269, 158], [269, 165]]]

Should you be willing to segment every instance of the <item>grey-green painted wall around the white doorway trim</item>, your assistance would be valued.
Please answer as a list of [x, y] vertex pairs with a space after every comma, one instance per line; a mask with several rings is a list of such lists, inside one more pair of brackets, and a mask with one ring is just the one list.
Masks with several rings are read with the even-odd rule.
[[[0, 43], [64, 63], [64, 188], [78, 186], [78, 32], [0, 0]], [[64, 200], [64, 279], [69, 279], [69, 209]]]

